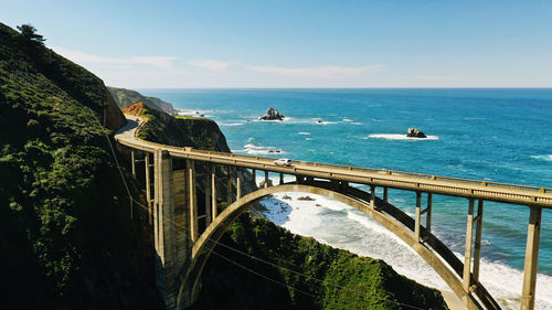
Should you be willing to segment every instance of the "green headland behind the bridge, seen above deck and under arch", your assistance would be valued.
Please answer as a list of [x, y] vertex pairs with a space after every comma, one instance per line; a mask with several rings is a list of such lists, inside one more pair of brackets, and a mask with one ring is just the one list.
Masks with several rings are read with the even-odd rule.
[[[173, 117], [141, 104], [126, 110], [148, 119], [138, 132], [145, 140], [230, 152], [223, 133], [212, 120]], [[224, 184], [219, 186], [225, 190]], [[263, 264], [219, 245], [214, 252], [223, 257], [211, 256], [194, 309], [411, 309], [404, 304], [447, 309], [439, 291], [396, 274], [383, 260], [359, 257], [294, 235], [250, 213], [232, 224], [221, 242], [311, 277]]]

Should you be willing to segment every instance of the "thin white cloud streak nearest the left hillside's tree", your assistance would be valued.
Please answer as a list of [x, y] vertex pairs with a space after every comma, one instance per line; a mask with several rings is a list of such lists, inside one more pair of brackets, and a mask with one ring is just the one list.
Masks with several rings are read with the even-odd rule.
[[173, 56], [131, 56], [127, 58], [115, 58], [97, 56], [64, 47], [52, 47], [52, 50], [76, 63], [140, 64], [151, 65], [160, 68], [170, 68], [172, 66], [172, 62], [177, 60], [177, 57]]

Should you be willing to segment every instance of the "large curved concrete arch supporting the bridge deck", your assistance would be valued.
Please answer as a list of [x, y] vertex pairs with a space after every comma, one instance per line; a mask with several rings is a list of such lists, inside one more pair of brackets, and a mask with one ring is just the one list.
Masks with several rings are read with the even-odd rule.
[[[473, 288], [474, 293], [466, 292], [463, 288], [461, 276], [458, 276], [459, 270], [464, 267], [463, 263], [440, 240], [429, 233], [426, 235], [426, 242], [432, 245], [434, 250], [437, 248], [440, 257], [424, 243], [420, 243], [414, 236], [413, 231], [408, 227], [412, 226], [410, 222], [413, 220], [399, 209], [379, 199], [376, 199], [375, 207], [371, 207], [365, 199], [363, 200], [368, 193], [354, 188], [347, 186], [335, 190], [332, 189], [335, 188], [333, 184], [323, 181], [312, 182], [311, 184], [283, 184], [259, 189], [229, 205], [198, 238], [190, 257], [180, 268], [180, 282], [177, 284], [179, 287], [177, 309], [191, 306], [199, 297], [203, 267], [212, 249], [216, 246], [227, 227], [254, 203], [268, 195], [283, 192], [302, 192], [322, 195], [359, 210], [413, 248], [445, 280], [455, 295], [467, 304], [468, 309], [500, 309], [498, 303], [496, 303], [480, 284]], [[383, 213], [382, 210], [385, 210], [386, 213]]]

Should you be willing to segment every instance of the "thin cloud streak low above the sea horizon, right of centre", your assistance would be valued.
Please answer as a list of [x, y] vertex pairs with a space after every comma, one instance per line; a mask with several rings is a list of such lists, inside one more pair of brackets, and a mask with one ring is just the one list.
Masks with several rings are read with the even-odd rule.
[[318, 66], [318, 67], [277, 67], [277, 66], [248, 66], [251, 71], [270, 73], [278, 75], [287, 75], [295, 77], [309, 77], [309, 78], [336, 78], [336, 77], [355, 77], [365, 73], [373, 73], [382, 68], [384, 65], [371, 66]]

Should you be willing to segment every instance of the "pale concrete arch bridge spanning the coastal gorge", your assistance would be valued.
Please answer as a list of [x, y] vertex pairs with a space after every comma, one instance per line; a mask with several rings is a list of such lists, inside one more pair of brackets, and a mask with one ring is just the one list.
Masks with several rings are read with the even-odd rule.
[[[275, 164], [272, 158], [144, 141], [135, 137], [137, 121], [130, 119], [116, 135], [116, 140], [130, 149], [132, 173], [144, 172], [140, 174], [147, 184], [146, 196], [158, 255], [157, 286], [168, 309], [185, 309], [193, 304], [205, 261], [225, 229], [253, 203], [279, 192], [323, 195], [375, 220], [435, 269], [468, 309], [500, 309], [479, 281], [485, 201], [529, 207], [521, 309], [534, 308], [541, 216], [543, 209], [552, 209], [552, 189], [306, 161], [291, 161], [291, 165], [285, 167]], [[227, 173], [221, 174], [221, 168]], [[197, 173], [199, 170], [203, 172]], [[279, 184], [244, 193], [245, 170], [251, 171], [253, 179], [264, 173], [266, 181], [269, 172], [279, 173]], [[295, 181], [284, 183], [284, 175], [294, 175]], [[205, 185], [202, 197], [198, 195], [198, 180]], [[221, 181], [227, 184], [224, 197], [227, 207], [219, 213], [221, 197], [216, 184]], [[370, 190], [362, 191], [351, 184], [368, 185]], [[382, 189], [380, 197], [376, 188]], [[389, 203], [389, 189], [415, 194], [414, 217]], [[466, 199], [464, 261], [432, 234], [435, 194]], [[426, 197], [424, 205], [423, 196]], [[177, 229], [177, 225], [187, 229]]]

